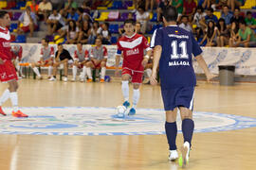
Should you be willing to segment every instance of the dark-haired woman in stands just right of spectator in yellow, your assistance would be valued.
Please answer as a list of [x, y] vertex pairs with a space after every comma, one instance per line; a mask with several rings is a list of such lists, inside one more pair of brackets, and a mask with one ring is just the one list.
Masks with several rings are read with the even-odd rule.
[[76, 43], [79, 36], [79, 28], [74, 20], [68, 22], [66, 42], [65, 43]]

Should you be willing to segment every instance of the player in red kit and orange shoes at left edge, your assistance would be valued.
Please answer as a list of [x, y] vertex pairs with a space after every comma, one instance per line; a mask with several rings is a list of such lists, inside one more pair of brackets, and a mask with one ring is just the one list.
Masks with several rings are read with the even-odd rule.
[[9, 13], [7, 11], [0, 11], [0, 80], [1, 82], [9, 83], [9, 88], [0, 97], [0, 113], [7, 115], [1, 106], [10, 98], [12, 115], [14, 117], [27, 117], [27, 114], [18, 109], [18, 76], [15, 66], [11, 62], [10, 34], [7, 28], [9, 24]]

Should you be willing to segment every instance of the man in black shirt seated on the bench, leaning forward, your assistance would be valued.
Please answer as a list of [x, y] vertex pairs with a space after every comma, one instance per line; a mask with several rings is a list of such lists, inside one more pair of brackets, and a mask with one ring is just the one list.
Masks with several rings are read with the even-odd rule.
[[64, 81], [67, 81], [67, 71], [68, 71], [68, 64], [73, 63], [73, 59], [70, 56], [69, 52], [64, 49], [62, 43], [58, 44], [58, 51], [55, 53], [55, 62], [53, 64], [53, 76], [49, 79], [49, 81], [55, 81], [57, 75], [58, 67], [63, 64], [64, 65]]

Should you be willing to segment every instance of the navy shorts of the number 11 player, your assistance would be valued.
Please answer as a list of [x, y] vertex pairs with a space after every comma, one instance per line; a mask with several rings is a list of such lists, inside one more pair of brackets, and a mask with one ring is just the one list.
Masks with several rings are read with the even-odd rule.
[[161, 90], [164, 110], [174, 110], [177, 107], [193, 109], [194, 87]]

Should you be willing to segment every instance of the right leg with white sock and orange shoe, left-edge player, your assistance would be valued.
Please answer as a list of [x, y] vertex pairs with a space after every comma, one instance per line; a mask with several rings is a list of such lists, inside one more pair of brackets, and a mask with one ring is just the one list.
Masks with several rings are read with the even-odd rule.
[[18, 82], [16, 79], [9, 81], [9, 98], [12, 105], [12, 115], [14, 117], [27, 117], [27, 114], [24, 114], [21, 110], [18, 108]]

